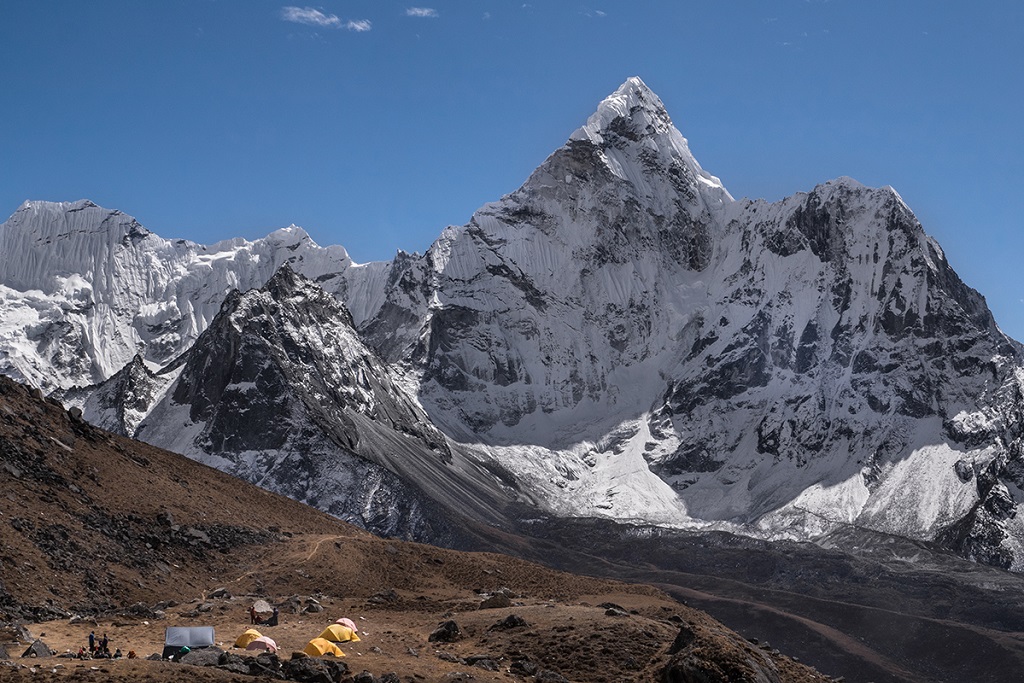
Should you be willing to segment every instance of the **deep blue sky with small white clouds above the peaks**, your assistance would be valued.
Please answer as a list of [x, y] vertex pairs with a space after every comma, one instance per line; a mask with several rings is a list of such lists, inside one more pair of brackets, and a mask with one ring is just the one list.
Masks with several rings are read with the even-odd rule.
[[735, 197], [893, 185], [1024, 340], [1024, 3], [0, 5], [0, 214], [166, 238], [290, 223], [357, 261], [515, 189], [629, 76]]

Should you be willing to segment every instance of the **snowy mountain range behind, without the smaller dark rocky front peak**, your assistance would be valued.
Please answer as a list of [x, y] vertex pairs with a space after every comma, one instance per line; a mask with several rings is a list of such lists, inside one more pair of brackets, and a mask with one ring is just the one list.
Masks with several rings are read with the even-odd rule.
[[[345, 302], [337, 324], [354, 325], [387, 367], [373, 372], [392, 373], [443, 432], [461, 464], [438, 476], [464, 495], [527, 516], [763, 538], [863, 525], [1024, 567], [1024, 353], [984, 298], [892, 188], [841, 177], [775, 203], [732, 199], [639, 79], [424, 254], [359, 265], [304, 232], [212, 254], [142, 241], [159, 248], [119, 242], [115, 259], [173, 252], [178, 270], [151, 284], [174, 305], [136, 295], [106, 311], [82, 273], [35, 301], [2, 281], [8, 317], [30, 323], [0, 330], [29, 358], [8, 352], [4, 372], [95, 384], [140, 349], [169, 368], [214, 303], [287, 263]], [[97, 347], [104, 329], [120, 336]], [[190, 433], [181, 426], [167, 438]]]

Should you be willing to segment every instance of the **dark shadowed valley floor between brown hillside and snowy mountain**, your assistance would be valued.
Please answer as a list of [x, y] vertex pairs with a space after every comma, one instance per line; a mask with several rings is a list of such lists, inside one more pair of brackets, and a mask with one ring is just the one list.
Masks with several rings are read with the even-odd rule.
[[1024, 578], [896, 537], [827, 542], [547, 520], [517, 554], [565, 570], [659, 586], [743, 636], [849, 680], [1020, 680]]

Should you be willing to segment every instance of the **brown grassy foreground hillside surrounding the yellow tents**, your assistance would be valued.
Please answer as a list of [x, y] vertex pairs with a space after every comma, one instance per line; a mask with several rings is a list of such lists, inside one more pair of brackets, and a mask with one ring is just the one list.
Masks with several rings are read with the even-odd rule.
[[[5, 681], [829, 680], [653, 587], [383, 540], [3, 378], [0, 486]], [[259, 666], [231, 648], [257, 598], [281, 608]], [[293, 658], [341, 616], [362, 636], [344, 658]], [[169, 626], [213, 626], [224, 653], [147, 659]], [[139, 658], [60, 656], [90, 631]], [[22, 657], [37, 639], [54, 655]]]

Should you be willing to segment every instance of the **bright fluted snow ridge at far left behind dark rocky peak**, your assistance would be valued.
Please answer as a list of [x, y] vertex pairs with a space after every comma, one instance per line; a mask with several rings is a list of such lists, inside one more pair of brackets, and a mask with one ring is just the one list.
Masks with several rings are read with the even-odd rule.
[[26, 202], [0, 229], [0, 371], [47, 389], [103, 381], [136, 354], [167, 362], [229, 291], [261, 286], [282, 263], [338, 289], [353, 265], [294, 225], [203, 246], [85, 200]]

